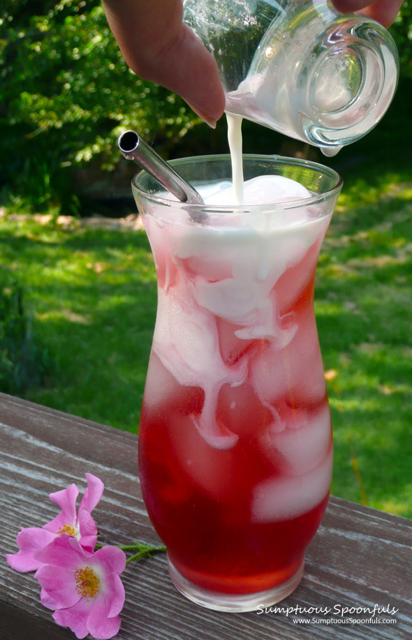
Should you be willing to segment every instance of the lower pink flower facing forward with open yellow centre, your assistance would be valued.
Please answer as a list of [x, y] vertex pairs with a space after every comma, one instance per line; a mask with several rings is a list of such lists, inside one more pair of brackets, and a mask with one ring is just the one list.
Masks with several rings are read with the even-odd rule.
[[66, 533], [37, 551], [41, 567], [35, 578], [41, 585], [41, 602], [54, 610], [53, 618], [78, 638], [112, 638], [120, 628], [124, 586], [119, 575], [126, 555], [117, 546], [96, 553], [82, 548]]

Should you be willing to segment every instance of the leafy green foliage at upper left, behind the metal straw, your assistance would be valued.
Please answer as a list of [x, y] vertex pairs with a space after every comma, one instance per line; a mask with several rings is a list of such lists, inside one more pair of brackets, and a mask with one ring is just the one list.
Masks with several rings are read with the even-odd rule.
[[[112, 170], [136, 128], [170, 145], [200, 120], [122, 59], [98, 0], [15, 0], [0, 14], [1, 181], [37, 210], [75, 210], [73, 168]], [[23, 89], [23, 90], [22, 90]]]

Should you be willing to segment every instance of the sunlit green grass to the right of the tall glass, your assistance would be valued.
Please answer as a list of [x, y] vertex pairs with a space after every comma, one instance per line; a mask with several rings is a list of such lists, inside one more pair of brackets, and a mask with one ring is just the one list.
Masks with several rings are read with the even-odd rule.
[[412, 517], [412, 191], [381, 185], [344, 193], [318, 265], [332, 491]]

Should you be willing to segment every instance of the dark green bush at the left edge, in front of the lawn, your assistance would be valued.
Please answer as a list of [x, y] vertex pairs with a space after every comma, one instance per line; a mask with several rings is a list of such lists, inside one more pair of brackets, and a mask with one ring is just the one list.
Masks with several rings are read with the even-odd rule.
[[22, 394], [40, 385], [49, 365], [47, 352], [34, 341], [22, 285], [0, 268], [0, 391]]

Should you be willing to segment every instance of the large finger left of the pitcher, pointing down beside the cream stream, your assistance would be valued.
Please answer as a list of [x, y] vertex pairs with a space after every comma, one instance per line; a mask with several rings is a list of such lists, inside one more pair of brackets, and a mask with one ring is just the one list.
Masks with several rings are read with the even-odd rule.
[[181, 0], [103, 0], [128, 66], [189, 103], [210, 126], [225, 108], [217, 64], [182, 22]]

